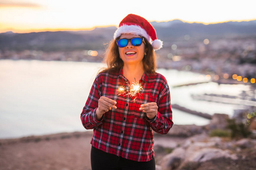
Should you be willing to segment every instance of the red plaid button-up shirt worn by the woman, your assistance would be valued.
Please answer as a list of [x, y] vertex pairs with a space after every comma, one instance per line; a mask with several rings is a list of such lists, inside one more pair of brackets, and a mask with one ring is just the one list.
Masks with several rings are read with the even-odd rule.
[[[142, 79], [142, 91], [135, 98], [129, 96], [129, 81], [119, 73], [100, 73], [81, 113], [85, 129], [93, 129], [92, 146], [102, 151], [138, 162], [154, 158], [153, 132], [166, 134], [172, 125], [170, 91], [161, 74], [146, 74]], [[118, 94], [119, 86], [125, 86], [126, 94]], [[117, 101], [117, 109], [103, 114], [96, 120], [96, 109], [101, 96]], [[155, 102], [158, 114], [152, 120], [139, 111], [141, 104]]]

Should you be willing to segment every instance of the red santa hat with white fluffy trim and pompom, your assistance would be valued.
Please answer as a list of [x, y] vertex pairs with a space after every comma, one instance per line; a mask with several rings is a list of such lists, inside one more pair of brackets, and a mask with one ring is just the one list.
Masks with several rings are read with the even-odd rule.
[[155, 50], [158, 50], [163, 46], [163, 41], [158, 40], [156, 37], [154, 27], [139, 15], [127, 15], [119, 23], [118, 29], [114, 33], [114, 39], [121, 36], [122, 33], [133, 33], [134, 35], [145, 37]]

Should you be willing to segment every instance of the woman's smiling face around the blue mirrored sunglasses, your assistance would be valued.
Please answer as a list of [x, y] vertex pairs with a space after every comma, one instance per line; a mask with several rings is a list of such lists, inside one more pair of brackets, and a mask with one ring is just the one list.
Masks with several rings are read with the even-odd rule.
[[[122, 34], [120, 39], [123, 39], [123, 38], [132, 39], [134, 37], [140, 37], [140, 36], [136, 36], [133, 34]], [[142, 59], [144, 57], [144, 49], [145, 49], [145, 44], [143, 42], [140, 46], [134, 46], [129, 41], [127, 46], [123, 48], [119, 47], [119, 55], [125, 65], [130, 65], [130, 64], [143, 65]]]

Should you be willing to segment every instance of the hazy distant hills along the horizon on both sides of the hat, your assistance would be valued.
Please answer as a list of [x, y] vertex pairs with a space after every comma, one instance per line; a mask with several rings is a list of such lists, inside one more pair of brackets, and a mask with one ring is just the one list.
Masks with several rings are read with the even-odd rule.
[[[249, 22], [226, 22], [218, 24], [185, 23], [180, 20], [151, 23], [158, 38], [164, 42], [175, 41], [184, 35], [193, 39], [205, 37], [256, 37], [256, 20]], [[105, 49], [113, 39], [117, 28], [95, 28], [92, 31], [57, 31], [31, 33], [0, 33], [0, 50], [80, 50]]]

